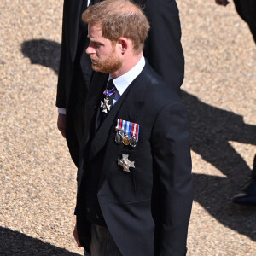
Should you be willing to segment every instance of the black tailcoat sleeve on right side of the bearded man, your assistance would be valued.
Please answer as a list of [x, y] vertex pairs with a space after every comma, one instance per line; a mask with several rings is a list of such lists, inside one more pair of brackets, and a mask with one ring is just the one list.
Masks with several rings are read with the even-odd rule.
[[169, 104], [160, 111], [151, 144], [157, 183], [153, 195], [157, 205], [155, 255], [185, 255], [193, 191], [189, 119], [182, 103]]

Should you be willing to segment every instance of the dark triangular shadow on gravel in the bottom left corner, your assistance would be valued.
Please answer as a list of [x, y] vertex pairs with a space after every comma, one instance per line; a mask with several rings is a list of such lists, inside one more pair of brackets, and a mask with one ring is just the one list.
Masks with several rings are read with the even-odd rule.
[[1, 256], [79, 256], [20, 232], [0, 227]]

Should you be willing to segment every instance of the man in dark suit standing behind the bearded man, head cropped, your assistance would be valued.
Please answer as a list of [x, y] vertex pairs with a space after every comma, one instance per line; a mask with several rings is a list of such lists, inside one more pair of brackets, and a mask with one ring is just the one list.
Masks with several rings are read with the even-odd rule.
[[[81, 106], [90, 82], [90, 58], [85, 54], [87, 25], [81, 20], [87, 5], [100, 0], [64, 0], [61, 60], [59, 68], [56, 106], [59, 108], [58, 128], [67, 138], [70, 154], [78, 165], [75, 148], [81, 142], [83, 124]], [[181, 29], [175, 0], [135, 0], [145, 7], [150, 31], [144, 55], [154, 70], [177, 93], [183, 83], [184, 59]]]

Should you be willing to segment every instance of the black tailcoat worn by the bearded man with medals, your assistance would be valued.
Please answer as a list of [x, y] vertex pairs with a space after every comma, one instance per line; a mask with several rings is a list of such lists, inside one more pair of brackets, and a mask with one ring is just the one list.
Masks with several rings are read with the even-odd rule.
[[[84, 109], [84, 157], [78, 171], [79, 240], [90, 248], [83, 219], [82, 178], [102, 163], [97, 197], [113, 240], [124, 256], [184, 255], [192, 203], [189, 120], [179, 97], [146, 64], [93, 136], [106, 77], [95, 73]], [[140, 125], [136, 148], [114, 141], [117, 119]], [[122, 154], [135, 162], [118, 165]], [[84, 171], [85, 170], [85, 171]]]

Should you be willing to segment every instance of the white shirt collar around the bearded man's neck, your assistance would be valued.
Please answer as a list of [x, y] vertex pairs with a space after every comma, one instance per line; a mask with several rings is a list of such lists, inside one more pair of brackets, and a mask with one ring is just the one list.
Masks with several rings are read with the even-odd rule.
[[144, 56], [137, 62], [137, 64], [132, 67], [128, 72], [121, 75], [120, 77], [113, 79], [111, 75], [109, 75], [109, 79], [113, 79], [113, 84], [115, 85], [116, 89], [121, 96], [126, 88], [131, 84], [131, 82], [137, 78], [137, 76], [143, 71], [143, 67], [145, 67], [145, 58]]

